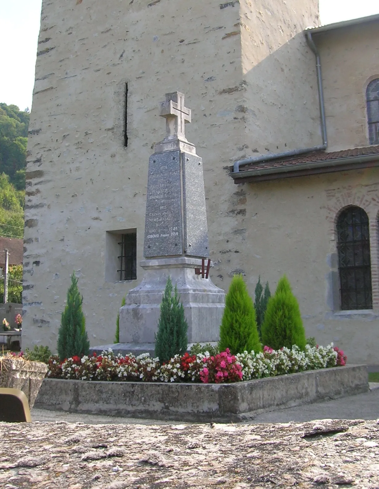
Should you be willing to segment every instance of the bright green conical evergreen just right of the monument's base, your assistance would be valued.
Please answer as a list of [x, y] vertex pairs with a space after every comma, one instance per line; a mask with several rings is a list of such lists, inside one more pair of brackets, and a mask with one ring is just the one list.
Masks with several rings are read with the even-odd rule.
[[234, 275], [225, 298], [225, 309], [220, 326], [220, 351], [258, 353], [262, 351], [259, 341], [254, 305], [242, 275]]

